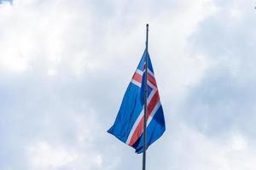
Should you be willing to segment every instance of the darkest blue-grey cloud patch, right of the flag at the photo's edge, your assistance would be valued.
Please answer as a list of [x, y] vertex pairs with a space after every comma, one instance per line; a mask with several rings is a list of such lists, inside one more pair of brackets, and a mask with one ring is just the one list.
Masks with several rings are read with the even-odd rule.
[[191, 89], [183, 118], [207, 135], [218, 136], [235, 128], [255, 136], [255, 82], [243, 84], [229, 71], [218, 70], [209, 71]]

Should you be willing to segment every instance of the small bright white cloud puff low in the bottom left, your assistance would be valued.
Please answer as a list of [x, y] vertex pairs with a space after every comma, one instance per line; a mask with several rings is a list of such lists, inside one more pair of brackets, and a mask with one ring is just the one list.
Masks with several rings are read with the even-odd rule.
[[76, 150], [61, 144], [39, 141], [27, 148], [30, 169], [92, 169], [102, 167], [102, 155], [92, 150]]

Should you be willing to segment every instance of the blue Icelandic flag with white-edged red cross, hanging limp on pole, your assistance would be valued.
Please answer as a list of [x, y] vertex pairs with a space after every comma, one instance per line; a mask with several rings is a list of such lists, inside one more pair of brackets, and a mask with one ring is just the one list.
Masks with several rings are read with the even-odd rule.
[[136, 152], [143, 152], [145, 62], [148, 57], [148, 98], [147, 98], [147, 141], [146, 148], [165, 132], [165, 118], [160, 95], [154, 78], [154, 71], [145, 50], [131, 82], [126, 89], [118, 115], [108, 133], [129, 144]]

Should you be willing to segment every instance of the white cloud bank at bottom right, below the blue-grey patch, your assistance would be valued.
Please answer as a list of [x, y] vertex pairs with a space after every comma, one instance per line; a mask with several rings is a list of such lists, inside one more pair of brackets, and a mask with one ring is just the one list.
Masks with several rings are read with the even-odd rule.
[[[159, 155], [158, 166], [180, 170], [203, 169], [247, 169], [253, 170], [253, 157], [256, 150], [253, 145], [247, 144], [247, 138], [241, 133], [233, 131], [218, 138], [207, 137], [196, 129], [184, 124], [175, 124], [172, 127], [172, 138], [164, 142], [166, 152], [161, 155], [159, 150], [150, 152], [150, 166], [153, 166], [155, 156]], [[165, 139], [166, 140], [166, 139]], [[242, 162], [242, 163], [241, 163]]]

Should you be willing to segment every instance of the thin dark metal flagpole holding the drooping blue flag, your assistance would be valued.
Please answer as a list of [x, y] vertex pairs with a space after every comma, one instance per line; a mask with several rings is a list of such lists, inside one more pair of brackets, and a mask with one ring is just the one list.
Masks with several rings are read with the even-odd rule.
[[146, 35], [146, 64], [145, 64], [145, 94], [144, 94], [144, 123], [143, 123], [143, 170], [146, 170], [146, 149], [147, 149], [147, 99], [148, 99], [148, 24]]

